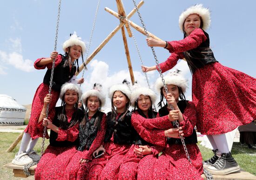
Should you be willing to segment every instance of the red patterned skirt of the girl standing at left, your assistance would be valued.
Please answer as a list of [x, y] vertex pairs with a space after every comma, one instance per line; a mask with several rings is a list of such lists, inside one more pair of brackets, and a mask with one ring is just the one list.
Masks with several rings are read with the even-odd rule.
[[[49, 93], [49, 86], [43, 83], [39, 85], [39, 87], [35, 92], [34, 99], [32, 102], [30, 119], [25, 129], [25, 133], [30, 134], [32, 139], [43, 137], [43, 128], [38, 129], [37, 124], [38, 124], [38, 119], [40, 117], [40, 113], [44, 106], [44, 98], [48, 93]], [[55, 90], [52, 90], [51, 94], [53, 96], [52, 96], [52, 101], [49, 105], [48, 118], [53, 120], [54, 114], [55, 114], [54, 108], [59, 99], [60, 93]], [[48, 134], [46, 135], [46, 138], [47, 139], [49, 138]]]

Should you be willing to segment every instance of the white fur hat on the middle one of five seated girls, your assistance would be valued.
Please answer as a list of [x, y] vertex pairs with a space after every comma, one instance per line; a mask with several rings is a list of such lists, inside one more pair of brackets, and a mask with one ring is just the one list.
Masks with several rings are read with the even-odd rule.
[[122, 84], [115, 84], [109, 88], [108, 96], [110, 99], [112, 99], [115, 91], [120, 90], [122, 93], [124, 93], [128, 98], [131, 98], [131, 90], [130, 85], [126, 81], [126, 79], [122, 82]]

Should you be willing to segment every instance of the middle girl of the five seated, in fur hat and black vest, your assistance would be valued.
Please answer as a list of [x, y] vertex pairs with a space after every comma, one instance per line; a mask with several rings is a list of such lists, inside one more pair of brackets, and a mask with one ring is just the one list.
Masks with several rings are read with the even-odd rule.
[[[112, 180], [117, 176], [124, 155], [134, 141], [135, 130], [131, 126], [131, 90], [129, 83], [115, 84], [109, 89], [112, 111], [107, 114], [104, 138], [105, 154], [92, 160], [88, 177], [83, 179]], [[103, 149], [102, 146], [100, 148]]]

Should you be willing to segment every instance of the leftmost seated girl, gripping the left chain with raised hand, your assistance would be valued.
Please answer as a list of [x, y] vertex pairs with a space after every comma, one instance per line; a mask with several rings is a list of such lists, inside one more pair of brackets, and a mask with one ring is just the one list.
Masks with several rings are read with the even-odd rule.
[[[51, 98], [45, 98], [45, 106], [42, 114], [46, 112], [46, 106]], [[61, 86], [61, 106], [56, 107], [53, 121], [43, 118], [41, 115], [38, 128], [46, 126], [51, 129], [50, 145], [46, 148], [35, 171], [35, 180], [62, 179], [67, 163], [73, 157], [78, 144], [79, 123], [84, 117], [81, 109], [78, 109], [78, 101], [81, 98], [81, 89], [77, 84], [65, 83]], [[43, 120], [42, 120], [43, 119]]]

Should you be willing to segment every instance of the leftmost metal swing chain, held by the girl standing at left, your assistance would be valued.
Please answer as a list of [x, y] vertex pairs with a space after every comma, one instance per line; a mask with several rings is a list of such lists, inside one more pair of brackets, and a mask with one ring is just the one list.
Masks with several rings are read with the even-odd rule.
[[[58, 6], [58, 16], [57, 16], [57, 24], [56, 24], [56, 34], [55, 34], [54, 51], [57, 50], [57, 41], [58, 41], [60, 14], [61, 14], [61, 0], [59, 0], [59, 6]], [[51, 94], [51, 91], [52, 91], [53, 76], [54, 76], [54, 65], [55, 65], [55, 58], [54, 58], [54, 60], [53, 60], [53, 66], [52, 66], [52, 72], [51, 72], [51, 80], [50, 80], [50, 85], [49, 85], [49, 94]], [[48, 118], [48, 112], [49, 112], [49, 104], [47, 104], [46, 118]], [[47, 129], [46, 129], [46, 126], [45, 126], [45, 127], [44, 127], [44, 133], [43, 133], [42, 147], [41, 147], [41, 155], [43, 155], [43, 153], [44, 153], [44, 141], [45, 141], [46, 130], [47, 130]]]

